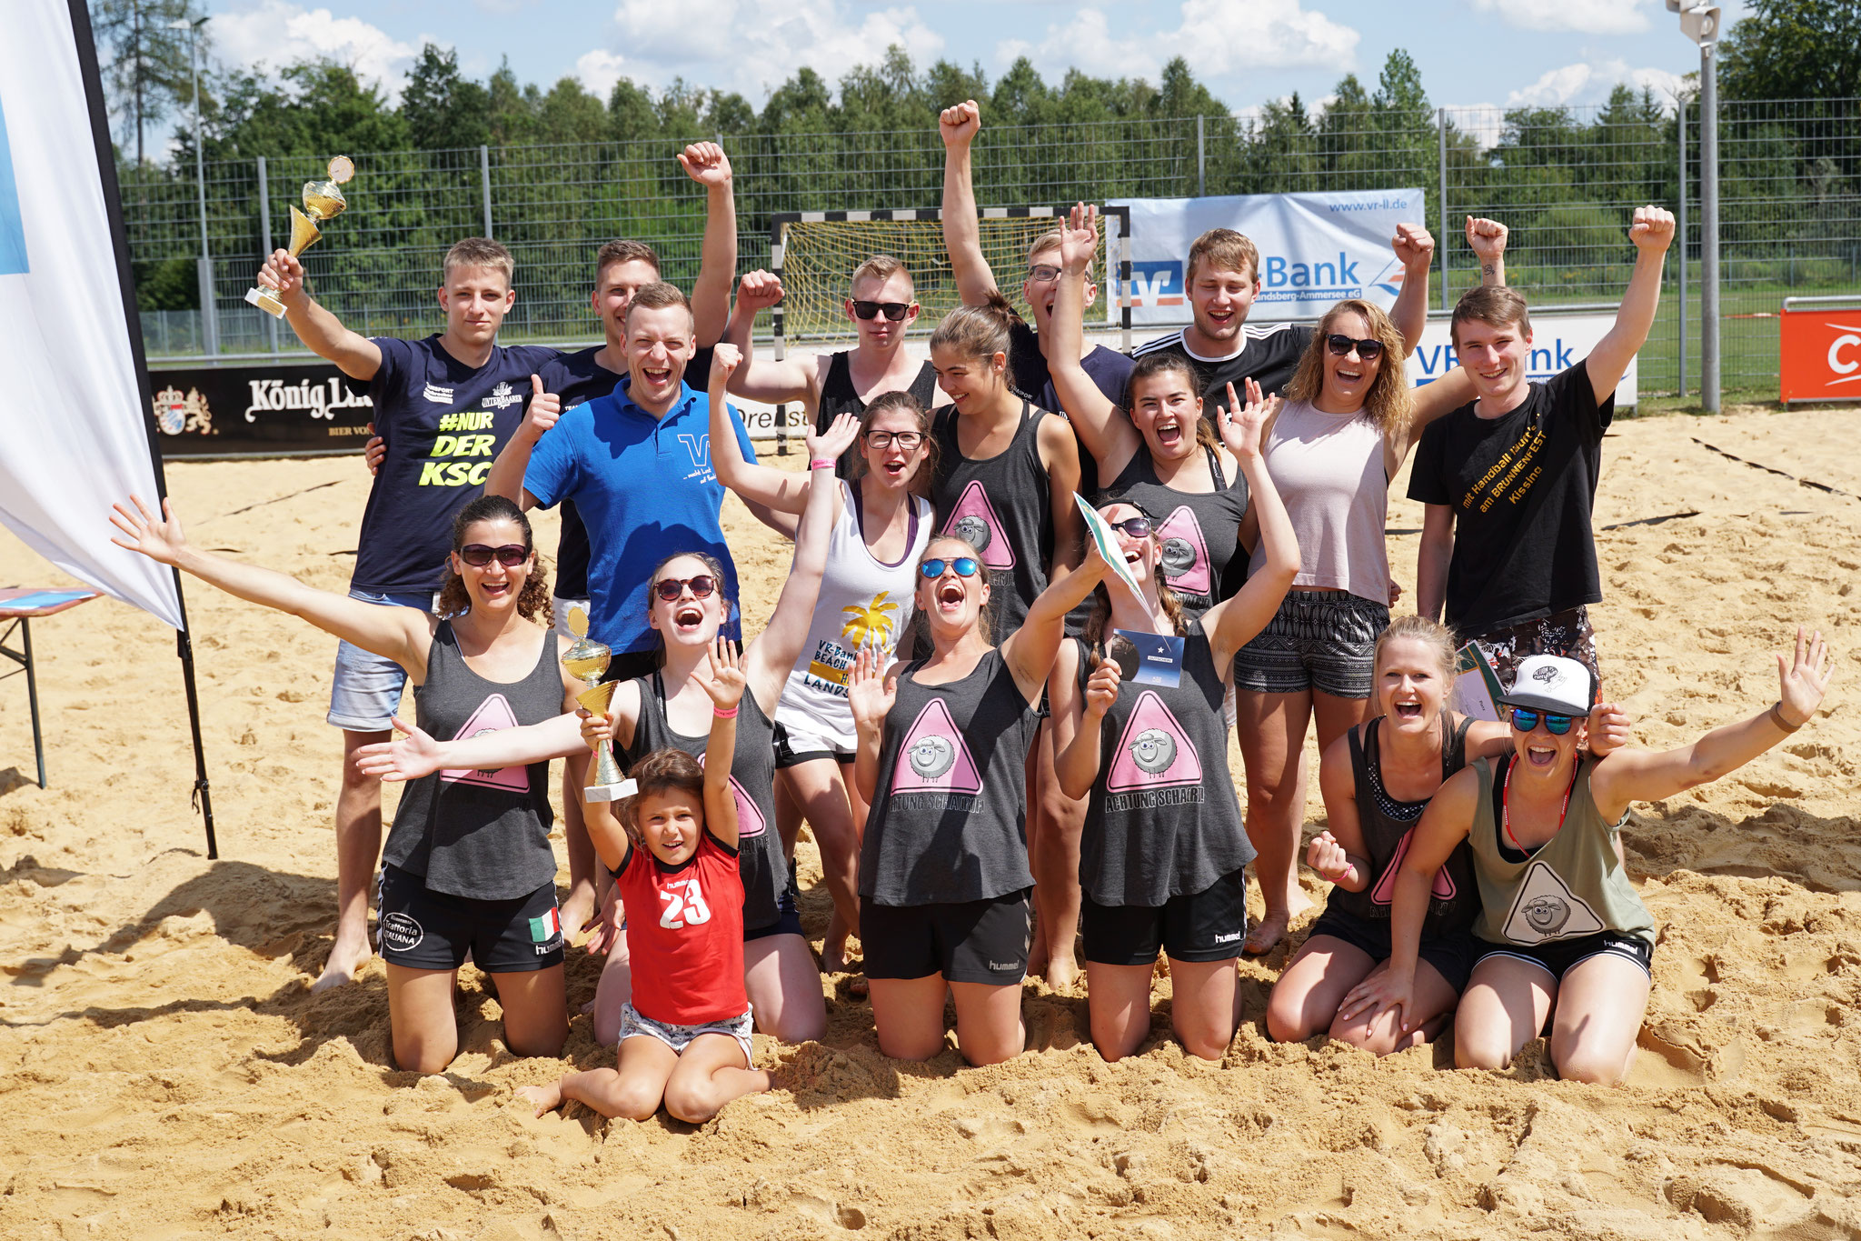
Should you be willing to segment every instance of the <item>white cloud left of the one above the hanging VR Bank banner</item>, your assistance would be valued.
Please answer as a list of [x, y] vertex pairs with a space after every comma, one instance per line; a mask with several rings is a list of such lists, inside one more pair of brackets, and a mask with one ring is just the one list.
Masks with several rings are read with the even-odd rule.
[[[800, 67], [830, 84], [854, 65], [884, 58], [903, 45], [919, 65], [944, 50], [912, 6], [875, 7], [849, 0], [620, 0], [614, 9], [614, 47], [625, 56], [584, 54], [577, 73], [594, 84], [599, 74], [629, 76], [666, 86], [676, 76], [690, 84], [735, 89], [761, 100]], [[609, 78], [612, 86], [612, 78]]]

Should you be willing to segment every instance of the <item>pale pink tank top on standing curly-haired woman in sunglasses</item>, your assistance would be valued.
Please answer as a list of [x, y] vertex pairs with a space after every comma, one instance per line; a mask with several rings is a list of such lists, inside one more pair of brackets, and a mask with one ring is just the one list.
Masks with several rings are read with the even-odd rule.
[[[1386, 605], [1390, 480], [1383, 432], [1357, 413], [1323, 413], [1293, 400], [1273, 420], [1264, 458], [1299, 538], [1293, 590], [1329, 586]], [[1252, 567], [1264, 564], [1265, 551], [1254, 547]]]

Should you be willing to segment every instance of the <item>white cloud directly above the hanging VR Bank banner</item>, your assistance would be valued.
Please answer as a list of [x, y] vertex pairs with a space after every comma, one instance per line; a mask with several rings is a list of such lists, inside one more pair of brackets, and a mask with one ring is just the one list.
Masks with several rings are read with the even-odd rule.
[[[1120, 24], [1133, 7], [1117, 9]], [[1081, 9], [1066, 24], [1048, 26], [1046, 37], [1029, 47], [1022, 39], [996, 45], [1003, 65], [1027, 56], [1046, 74], [1079, 69], [1100, 76], [1145, 76], [1152, 82], [1165, 61], [1182, 56], [1198, 78], [1221, 78], [1260, 69], [1334, 69], [1357, 65], [1360, 35], [1323, 13], [1306, 11], [1303, 0], [1182, 0], [1182, 24], [1174, 30], [1137, 33], [1113, 30], [1104, 9]]]

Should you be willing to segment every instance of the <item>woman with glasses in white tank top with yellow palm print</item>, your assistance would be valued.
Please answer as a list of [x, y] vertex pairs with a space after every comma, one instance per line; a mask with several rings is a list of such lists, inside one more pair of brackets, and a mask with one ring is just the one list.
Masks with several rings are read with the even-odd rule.
[[[737, 357], [735, 346], [720, 344], [711, 363], [713, 422], [722, 417], [720, 385], [733, 378]], [[728, 430], [711, 432], [718, 482], [752, 504], [800, 514], [817, 478], [832, 491], [834, 532], [821, 597], [776, 707], [778, 780], [813, 824], [834, 897], [834, 919], [821, 945], [821, 967], [828, 973], [845, 967], [847, 936], [860, 925], [860, 830], [867, 815], [852, 781], [856, 737], [847, 675], [860, 647], [890, 653], [908, 631], [916, 564], [930, 541], [934, 517], [930, 502], [917, 495], [936, 463], [923, 404], [910, 393], [880, 393], [865, 404], [858, 426], [854, 448], [841, 456], [856, 461], [845, 480], [817, 473], [821, 461], [810, 461], [806, 476], [757, 465], [744, 460]]]

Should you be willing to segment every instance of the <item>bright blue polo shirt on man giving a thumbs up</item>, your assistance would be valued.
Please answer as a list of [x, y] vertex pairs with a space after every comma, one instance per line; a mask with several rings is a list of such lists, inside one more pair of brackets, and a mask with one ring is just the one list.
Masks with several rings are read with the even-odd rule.
[[[756, 460], [733, 406], [743, 456]], [[711, 400], [689, 383], [655, 419], [625, 389], [566, 409], [530, 452], [523, 489], [543, 508], [573, 500], [588, 527], [588, 636], [614, 653], [659, 646], [646, 623], [648, 584], [659, 562], [709, 553], [724, 566], [724, 592], [737, 599], [737, 566], [718, 510], [724, 484], [711, 469]], [[726, 633], [739, 636], [731, 616]]]

